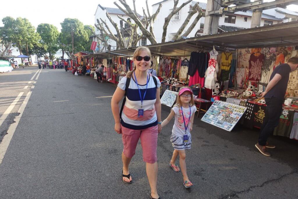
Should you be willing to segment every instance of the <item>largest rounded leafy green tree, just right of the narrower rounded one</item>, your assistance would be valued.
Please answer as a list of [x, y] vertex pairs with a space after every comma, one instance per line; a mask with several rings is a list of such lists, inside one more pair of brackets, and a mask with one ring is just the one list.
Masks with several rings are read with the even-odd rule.
[[75, 18], [65, 18], [60, 24], [62, 44], [72, 44], [72, 53], [84, 50], [84, 44], [88, 42], [89, 36], [83, 23]]

